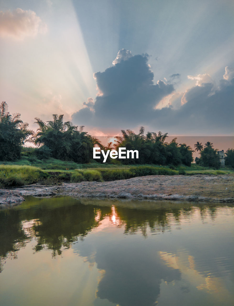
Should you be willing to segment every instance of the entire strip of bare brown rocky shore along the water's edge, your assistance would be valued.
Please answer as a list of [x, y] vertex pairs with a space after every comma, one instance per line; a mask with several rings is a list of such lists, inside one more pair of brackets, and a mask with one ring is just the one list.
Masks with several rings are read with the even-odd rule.
[[61, 186], [32, 184], [0, 190], [0, 204], [24, 200], [23, 196], [109, 197], [155, 200], [234, 202], [232, 175], [149, 175], [110, 182], [64, 183]]

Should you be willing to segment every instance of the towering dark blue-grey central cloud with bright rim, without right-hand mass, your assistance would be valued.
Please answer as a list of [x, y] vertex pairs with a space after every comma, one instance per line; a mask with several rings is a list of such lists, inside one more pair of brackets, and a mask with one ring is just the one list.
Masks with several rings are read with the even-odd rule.
[[[129, 55], [130, 51], [125, 51], [120, 50], [118, 54]], [[172, 84], [161, 80], [154, 84], [154, 73], [148, 65], [147, 54], [131, 55], [104, 72], [95, 73], [94, 77], [99, 94], [92, 105], [93, 110], [85, 103], [83, 109], [72, 115], [72, 120], [80, 124], [85, 119], [86, 125], [117, 127], [120, 122], [129, 119], [137, 124], [140, 120], [147, 120], [148, 113], [174, 90]]]

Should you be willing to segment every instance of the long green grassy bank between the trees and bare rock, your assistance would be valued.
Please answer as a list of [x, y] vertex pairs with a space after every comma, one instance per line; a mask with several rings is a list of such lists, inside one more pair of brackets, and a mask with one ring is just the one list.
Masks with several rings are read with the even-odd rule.
[[[1, 162], [0, 162], [1, 163]], [[172, 168], [172, 169], [170, 169]], [[145, 175], [223, 175], [234, 174], [230, 167], [220, 170], [192, 164], [188, 166], [119, 165], [98, 163], [77, 164], [57, 159], [39, 160], [35, 156], [23, 156], [16, 162], [0, 165], [0, 188], [40, 183], [59, 185], [63, 182], [114, 181]]]

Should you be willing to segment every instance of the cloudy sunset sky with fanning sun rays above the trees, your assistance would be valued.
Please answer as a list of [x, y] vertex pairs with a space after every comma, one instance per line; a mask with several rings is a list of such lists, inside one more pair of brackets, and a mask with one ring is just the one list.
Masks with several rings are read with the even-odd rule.
[[0, 11], [1, 101], [31, 129], [64, 114], [93, 136], [233, 136], [234, 2], [1, 0]]

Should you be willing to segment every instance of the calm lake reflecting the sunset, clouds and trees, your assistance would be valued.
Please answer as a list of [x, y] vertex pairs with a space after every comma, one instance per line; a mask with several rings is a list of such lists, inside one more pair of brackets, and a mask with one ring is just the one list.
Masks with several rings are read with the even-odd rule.
[[234, 206], [26, 197], [0, 210], [0, 304], [233, 305]]

